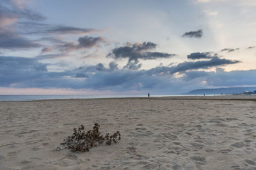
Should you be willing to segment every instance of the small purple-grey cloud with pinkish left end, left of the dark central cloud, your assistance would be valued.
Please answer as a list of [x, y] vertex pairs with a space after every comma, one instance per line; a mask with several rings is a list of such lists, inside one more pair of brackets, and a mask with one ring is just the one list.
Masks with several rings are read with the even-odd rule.
[[84, 36], [78, 39], [78, 43], [66, 43], [64, 45], [58, 46], [62, 51], [71, 52], [74, 50], [80, 50], [84, 48], [92, 48], [93, 46], [99, 45], [99, 43], [104, 42], [104, 38], [102, 37], [91, 37], [91, 36]]

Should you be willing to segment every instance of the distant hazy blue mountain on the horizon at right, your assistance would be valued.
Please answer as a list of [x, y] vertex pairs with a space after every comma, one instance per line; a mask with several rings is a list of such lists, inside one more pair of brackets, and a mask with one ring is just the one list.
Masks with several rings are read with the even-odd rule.
[[191, 90], [186, 94], [239, 94], [244, 91], [254, 91], [256, 87], [227, 87], [218, 89], [197, 89]]

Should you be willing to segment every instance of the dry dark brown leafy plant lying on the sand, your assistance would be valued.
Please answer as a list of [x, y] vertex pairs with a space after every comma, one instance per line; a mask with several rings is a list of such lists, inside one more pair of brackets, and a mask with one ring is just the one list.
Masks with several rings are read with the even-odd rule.
[[109, 133], [103, 136], [99, 132], [100, 125], [95, 123], [92, 131], [84, 131], [84, 126], [81, 125], [78, 129], [74, 129], [72, 136], [68, 136], [64, 139], [61, 145], [65, 145], [65, 148], [72, 150], [72, 152], [88, 152], [93, 146], [106, 142], [106, 145], [111, 143], [118, 143], [116, 139], [121, 139], [119, 131], [109, 136]]

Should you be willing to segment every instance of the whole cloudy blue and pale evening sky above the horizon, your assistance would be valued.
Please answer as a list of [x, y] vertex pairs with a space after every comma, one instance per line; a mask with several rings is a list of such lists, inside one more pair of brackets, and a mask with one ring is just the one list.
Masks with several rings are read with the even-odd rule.
[[256, 86], [256, 0], [0, 0], [0, 94]]

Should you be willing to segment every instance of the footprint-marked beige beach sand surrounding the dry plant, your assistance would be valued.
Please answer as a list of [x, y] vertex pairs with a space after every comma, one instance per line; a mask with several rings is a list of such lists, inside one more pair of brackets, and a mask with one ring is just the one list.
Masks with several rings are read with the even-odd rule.
[[[255, 96], [0, 102], [0, 117], [0, 169], [256, 169]], [[95, 122], [120, 143], [56, 151]]]

